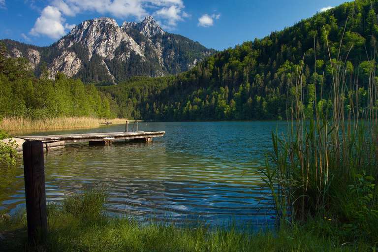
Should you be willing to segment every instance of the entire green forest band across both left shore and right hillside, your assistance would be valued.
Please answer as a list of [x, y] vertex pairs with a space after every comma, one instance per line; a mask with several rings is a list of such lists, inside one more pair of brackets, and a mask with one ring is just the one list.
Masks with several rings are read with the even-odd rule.
[[[6, 58], [1, 47], [0, 116], [281, 120], [291, 110], [300, 79], [301, 100], [311, 117], [315, 99], [322, 106], [330, 104], [332, 77], [341, 68], [346, 69], [346, 87], [353, 90], [346, 91], [346, 100], [358, 95], [359, 104], [354, 105], [363, 107], [370, 73], [377, 65], [377, 13], [378, 0], [347, 2], [218, 52], [189, 71], [130, 77], [112, 86], [83, 84], [61, 73], [53, 81], [43, 69], [36, 78], [24, 59]], [[346, 102], [344, 109], [350, 105]]]

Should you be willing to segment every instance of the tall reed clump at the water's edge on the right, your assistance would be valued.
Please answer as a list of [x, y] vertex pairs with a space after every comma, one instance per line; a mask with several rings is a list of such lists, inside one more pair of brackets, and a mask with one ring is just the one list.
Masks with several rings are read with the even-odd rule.
[[[332, 68], [331, 90], [326, 97], [329, 102], [315, 95], [311, 104], [314, 114], [307, 115], [299, 68], [293, 85], [295, 98], [288, 104], [288, 134], [280, 137], [272, 133], [274, 151], [261, 176], [271, 189], [278, 224], [299, 221], [308, 225], [314, 219], [330, 222], [326, 235], [342, 237], [347, 243], [362, 239], [377, 248], [376, 72], [370, 73], [367, 104], [361, 106], [360, 86], [347, 71], [347, 56], [342, 60], [339, 50], [334, 63], [329, 49], [328, 54]], [[358, 75], [359, 69], [354, 74]], [[314, 82], [315, 94], [324, 94], [323, 78], [320, 83], [314, 78]]]

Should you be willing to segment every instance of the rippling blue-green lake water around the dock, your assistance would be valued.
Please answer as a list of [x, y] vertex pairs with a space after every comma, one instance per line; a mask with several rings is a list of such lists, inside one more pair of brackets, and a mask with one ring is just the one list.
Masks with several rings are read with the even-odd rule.
[[[112, 146], [69, 144], [45, 156], [48, 201], [61, 201], [84, 188], [109, 193], [108, 213], [211, 226], [272, 223], [274, 214], [257, 169], [271, 150], [271, 131], [284, 122], [192, 122], [139, 124], [166, 131], [153, 143]], [[125, 126], [36, 132], [124, 131]], [[32, 135], [28, 133], [28, 135]], [[0, 169], [0, 210], [25, 208], [23, 164]]]

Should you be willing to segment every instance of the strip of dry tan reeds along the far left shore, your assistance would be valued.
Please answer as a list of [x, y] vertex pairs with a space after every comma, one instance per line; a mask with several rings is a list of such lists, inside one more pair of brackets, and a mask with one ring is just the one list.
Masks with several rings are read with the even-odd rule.
[[[126, 119], [108, 119], [112, 124], [125, 124]], [[5, 117], [0, 121], [0, 128], [6, 131], [95, 128], [104, 123], [104, 119], [91, 117], [59, 117], [30, 119], [25, 117]]]

